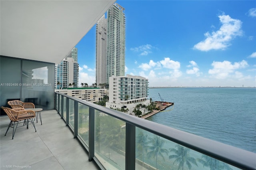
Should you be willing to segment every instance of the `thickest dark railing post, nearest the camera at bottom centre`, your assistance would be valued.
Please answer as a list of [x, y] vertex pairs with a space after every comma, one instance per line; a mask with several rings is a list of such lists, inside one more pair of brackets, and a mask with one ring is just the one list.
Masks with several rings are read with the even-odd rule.
[[135, 126], [126, 123], [125, 135], [125, 169], [135, 170]]

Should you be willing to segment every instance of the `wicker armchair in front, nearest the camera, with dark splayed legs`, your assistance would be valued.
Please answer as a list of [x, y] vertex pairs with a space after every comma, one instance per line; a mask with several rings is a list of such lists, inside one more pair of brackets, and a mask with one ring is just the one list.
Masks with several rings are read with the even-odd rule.
[[[10, 109], [8, 107], [1, 107], [4, 112], [8, 115], [9, 119], [10, 119], [10, 124], [6, 130], [6, 133], [4, 136], [6, 136], [9, 128], [13, 128], [12, 130], [12, 139], [14, 137], [14, 134], [16, 132], [16, 128], [18, 127], [18, 124], [21, 123], [20, 121], [24, 121], [26, 122], [27, 125], [27, 129], [28, 129], [28, 123], [32, 123], [32, 125], [34, 126], [35, 130], [35, 124], [32, 118], [36, 117], [36, 113], [32, 110], [25, 110], [24, 108], [16, 108], [16, 109]], [[16, 125], [16, 127], [15, 127]], [[24, 125], [24, 124], [23, 124]]]

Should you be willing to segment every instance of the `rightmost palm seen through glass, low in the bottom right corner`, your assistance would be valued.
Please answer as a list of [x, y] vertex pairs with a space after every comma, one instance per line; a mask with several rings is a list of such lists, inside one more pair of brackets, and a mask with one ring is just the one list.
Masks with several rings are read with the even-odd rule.
[[202, 159], [198, 159], [198, 162], [203, 164], [203, 166], [209, 167], [210, 170], [232, 170], [228, 164], [207, 155], [203, 155]]

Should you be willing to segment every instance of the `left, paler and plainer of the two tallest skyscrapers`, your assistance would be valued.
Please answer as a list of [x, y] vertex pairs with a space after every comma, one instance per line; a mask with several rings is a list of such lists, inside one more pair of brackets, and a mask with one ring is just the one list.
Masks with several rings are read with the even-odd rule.
[[96, 67], [95, 82], [97, 85], [106, 83], [107, 65], [107, 19], [105, 14], [96, 24]]

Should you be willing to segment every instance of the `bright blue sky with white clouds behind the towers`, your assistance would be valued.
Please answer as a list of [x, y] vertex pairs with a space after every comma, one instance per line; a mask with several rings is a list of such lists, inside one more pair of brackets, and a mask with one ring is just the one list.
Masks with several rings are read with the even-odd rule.
[[[256, 1], [117, 0], [126, 74], [150, 87], [256, 86]], [[95, 82], [94, 26], [76, 45], [80, 83]], [[80, 84], [79, 83], [79, 84]]]

